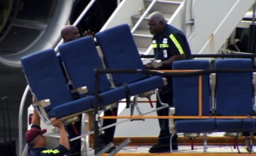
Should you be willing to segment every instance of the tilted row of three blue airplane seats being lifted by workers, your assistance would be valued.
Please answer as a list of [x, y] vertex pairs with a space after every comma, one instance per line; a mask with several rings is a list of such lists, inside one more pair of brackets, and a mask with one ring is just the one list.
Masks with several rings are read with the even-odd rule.
[[[101, 47], [107, 68], [144, 69], [130, 28], [122, 24], [95, 34]], [[101, 59], [91, 36], [79, 38], [59, 46], [59, 54], [65, 66], [61, 65], [53, 49], [47, 49], [25, 56], [21, 59], [23, 71], [31, 92], [36, 96], [34, 104], [42, 118], [67, 119], [94, 108], [95, 68], [103, 68]], [[65, 76], [74, 88], [86, 86], [87, 92], [74, 100]], [[105, 74], [100, 77], [100, 104], [106, 106], [123, 98], [160, 88], [164, 85], [161, 76], [144, 73], [113, 74], [115, 88], [111, 88]], [[41, 100], [49, 99], [48, 102]], [[49, 102], [50, 101], [50, 102]]]

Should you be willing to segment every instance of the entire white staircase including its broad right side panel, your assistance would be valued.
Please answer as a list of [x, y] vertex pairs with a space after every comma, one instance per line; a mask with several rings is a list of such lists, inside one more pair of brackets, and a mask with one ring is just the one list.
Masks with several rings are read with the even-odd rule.
[[[123, 0], [101, 31], [123, 23], [132, 29], [152, 1]], [[245, 25], [241, 19], [254, 3], [255, 0], [158, 0], [134, 31], [134, 40], [140, 53], [153, 54], [147, 17], [160, 11], [171, 25], [186, 34], [192, 54], [215, 54], [239, 23]]]

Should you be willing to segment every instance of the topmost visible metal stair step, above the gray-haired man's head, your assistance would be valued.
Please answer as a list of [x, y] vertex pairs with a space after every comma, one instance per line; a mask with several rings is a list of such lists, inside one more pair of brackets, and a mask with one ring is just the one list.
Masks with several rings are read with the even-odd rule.
[[[145, 9], [153, 0], [144, 0]], [[150, 12], [160, 11], [163, 14], [173, 14], [182, 2], [180, 1], [166, 1], [158, 0], [151, 8]]]

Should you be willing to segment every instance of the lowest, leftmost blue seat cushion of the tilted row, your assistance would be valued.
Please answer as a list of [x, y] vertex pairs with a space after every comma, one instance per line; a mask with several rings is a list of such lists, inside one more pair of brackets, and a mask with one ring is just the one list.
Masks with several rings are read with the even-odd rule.
[[93, 108], [91, 103], [92, 99], [94, 99], [94, 96], [87, 96], [66, 104], [55, 106], [47, 114], [49, 118], [56, 117], [59, 119], [75, 113], [83, 112]]

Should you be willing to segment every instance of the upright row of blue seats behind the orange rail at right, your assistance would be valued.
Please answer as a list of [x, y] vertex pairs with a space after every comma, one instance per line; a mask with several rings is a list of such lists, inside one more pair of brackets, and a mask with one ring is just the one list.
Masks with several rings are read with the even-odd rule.
[[[216, 69], [253, 68], [251, 59], [219, 59], [214, 66]], [[210, 69], [210, 66], [208, 60], [183, 60], [175, 61], [173, 69]], [[202, 116], [255, 115], [252, 81], [252, 72], [216, 73], [215, 88], [211, 88], [210, 74], [203, 75]], [[176, 116], [198, 116], [198, 76], [173, 77], [173, 100]], [[175, 120], [174, 124], [179, 133], [254, 132], [256, 122], [252, 118], [187, 119]]]

